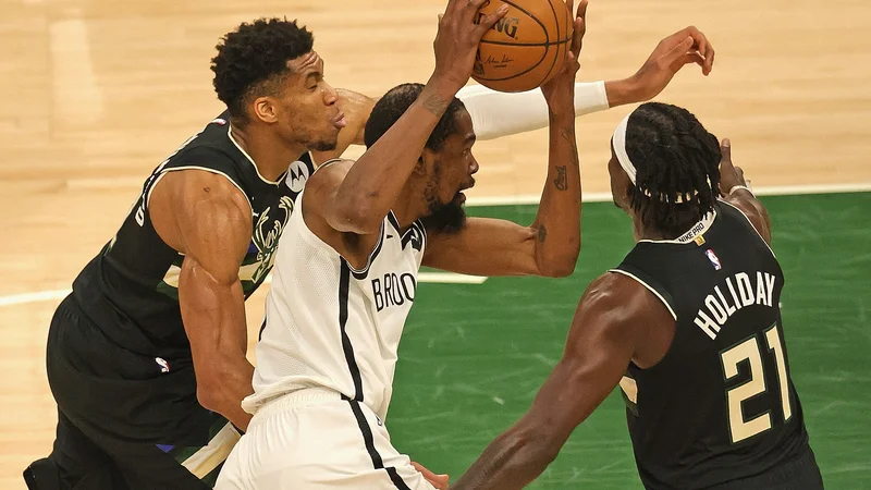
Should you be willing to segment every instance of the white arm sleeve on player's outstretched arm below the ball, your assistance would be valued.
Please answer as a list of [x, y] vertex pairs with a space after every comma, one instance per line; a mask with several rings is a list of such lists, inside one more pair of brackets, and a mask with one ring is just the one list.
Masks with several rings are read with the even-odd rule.
[[[575, 84], [575, 117], [609, 108], [608, 83]], [[479, 140], [540, 130], [548, 125], [548, 102], [540, 88], [502, 93], [482, 85], [468, 85], [456, 95], [471, 115]]]

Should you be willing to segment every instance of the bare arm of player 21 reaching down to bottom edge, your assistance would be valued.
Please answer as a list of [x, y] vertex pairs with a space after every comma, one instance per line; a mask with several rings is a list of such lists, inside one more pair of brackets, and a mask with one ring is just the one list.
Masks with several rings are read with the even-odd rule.
[[619, 383], [648, 329], [674, 324], [659, 299], [634, 280], [605, 274], [580, 299], [563, 358], [529, 412], [498, 437], [452, 490], [519, 489]]

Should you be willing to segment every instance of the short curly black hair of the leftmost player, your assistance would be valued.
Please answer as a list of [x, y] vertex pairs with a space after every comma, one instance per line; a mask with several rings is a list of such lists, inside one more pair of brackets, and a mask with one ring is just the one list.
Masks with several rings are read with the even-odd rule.
[[246, 118], [249, 97], [275, 95], [277, 78], [290, 73], [287, 61], [311, 51], [315, 38], [305, 26], [286, 19], [242, 23], [216, 46], [211, 60], [214, 91], [232, 118]]

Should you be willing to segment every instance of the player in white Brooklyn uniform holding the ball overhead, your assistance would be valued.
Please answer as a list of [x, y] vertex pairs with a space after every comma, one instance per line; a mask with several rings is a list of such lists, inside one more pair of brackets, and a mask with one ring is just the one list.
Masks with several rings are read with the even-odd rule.
[[[573, 98], [586, 1], [564, 69], [542, 87], [550, 161], [531, 226], [467, 220], [463, 210], [478, 162], [471, 118], [454, 95], [494, 22], [491, 15], [475, 24], [483, 1], [447, 3], [427, 85], [388, 91], [367, 122], [366, 154], [324, 163], [297, 197], [278, 248], [255, 392], [243, 401], [254, 419], [217, 489], [432, 489], [384, 427], [418, 269], [548, 277], [574, 270], [580, 172]], [[358, 180], [380, 185], [359, 196], [351, 192]]]

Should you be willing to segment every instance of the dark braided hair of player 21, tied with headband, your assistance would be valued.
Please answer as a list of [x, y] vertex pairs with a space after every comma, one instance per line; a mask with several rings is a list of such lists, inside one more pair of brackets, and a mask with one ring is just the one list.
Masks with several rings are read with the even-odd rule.
[[720, 142], [686, 109], [641, 105], [627, 123], [626, 152], [636, 167], [629, 203], [647, 228], [678, 236], [713, 209]]

